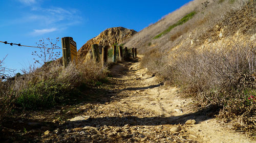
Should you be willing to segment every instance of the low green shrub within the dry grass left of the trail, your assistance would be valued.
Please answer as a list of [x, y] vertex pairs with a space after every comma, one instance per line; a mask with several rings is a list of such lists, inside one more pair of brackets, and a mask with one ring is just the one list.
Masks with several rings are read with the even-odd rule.
[[62, 100], [71, 89], [67, 83], [58, 83], [54, 80], [41, 81], [20, 91], [15, 103], [24, 109], [51, 107]]

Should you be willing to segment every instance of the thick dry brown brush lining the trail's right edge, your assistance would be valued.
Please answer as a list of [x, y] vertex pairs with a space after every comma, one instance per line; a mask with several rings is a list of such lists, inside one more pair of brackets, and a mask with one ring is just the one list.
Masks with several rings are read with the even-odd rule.
[[[223, 107], [220, 118], [255, 131], [256, 43], [238, 34], [198, 49], [158, 50], [145, 54], [142, 65], [195, 97], [201, 106]], [[241, 74], [242, 73], [242, 74]]]

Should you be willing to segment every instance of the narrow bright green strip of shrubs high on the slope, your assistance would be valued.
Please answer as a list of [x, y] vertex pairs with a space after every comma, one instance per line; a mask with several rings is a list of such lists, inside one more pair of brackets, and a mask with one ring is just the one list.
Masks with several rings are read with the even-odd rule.
[[161, 36], [167, 34], [168, 32], [170, 32], [173, 28], [175, 28], [176, 26], [182, 25], [183, 23], [187, 22], [189, 19], [191, 19], [194, 15], [196, 14], [196, 12], [191, 12], [189, 14], [187, 14], [186, 16], [184, 16], [182, 19], [180, 19], [177, 23], [170, 25], [167, 30], [161, 32], [160, 34], [158, 34], [157, 36], [155, 36], [153, 39], [157, 39], [160, 38]]

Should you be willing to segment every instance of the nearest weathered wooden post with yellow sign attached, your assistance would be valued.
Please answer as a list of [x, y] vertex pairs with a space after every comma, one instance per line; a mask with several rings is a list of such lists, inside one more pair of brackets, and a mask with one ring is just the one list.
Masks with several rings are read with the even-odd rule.
[[75, 61], [77, 64], [77, 49], [76, 42], [72, 37], [61, 38], [62, 44], [62, 61], [63, 68], [66, 68], [70, 62]]

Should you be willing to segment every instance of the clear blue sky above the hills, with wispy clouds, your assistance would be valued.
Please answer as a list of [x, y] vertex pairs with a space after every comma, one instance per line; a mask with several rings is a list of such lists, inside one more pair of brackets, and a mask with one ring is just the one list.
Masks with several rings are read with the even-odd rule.
[[[106, 28], [123, 26], [139, 32], [188, 2], [1, 0], [0, 41], [37, 46], [42, 38], [73, 37], [79, 49]], [[5, 67], [19, 72], [33, 65], [35, 48], [3, 43], [0, 48], [0, 60], [8, 54]]]

